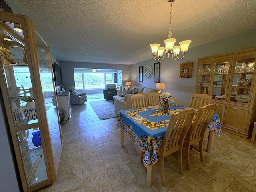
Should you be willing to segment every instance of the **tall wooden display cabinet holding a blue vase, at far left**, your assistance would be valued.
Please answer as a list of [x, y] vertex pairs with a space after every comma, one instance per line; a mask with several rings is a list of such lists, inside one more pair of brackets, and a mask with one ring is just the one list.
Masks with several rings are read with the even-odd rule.
[[34, 191], [56, 180], [62, 136], [50, 49], [27, 16], [0, 12], [0, 63], [19, 178], [24, 192]]

